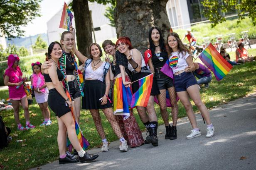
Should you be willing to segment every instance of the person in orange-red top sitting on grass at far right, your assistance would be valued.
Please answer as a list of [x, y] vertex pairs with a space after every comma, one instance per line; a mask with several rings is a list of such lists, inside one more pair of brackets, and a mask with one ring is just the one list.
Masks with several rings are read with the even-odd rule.
[[247, 50], [244, 48], [244, 43], [239, 43], [236, 49], [236, 62], [245, 63], [253, 60], [254, 57], [249, 57]]

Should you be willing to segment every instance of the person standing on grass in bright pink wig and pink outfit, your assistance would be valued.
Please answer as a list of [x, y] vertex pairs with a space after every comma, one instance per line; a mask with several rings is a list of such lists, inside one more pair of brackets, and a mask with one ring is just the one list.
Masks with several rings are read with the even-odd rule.
[[[35, 126], [30, 123], [27, 95], [23, 87], [23, 81], [26, 79], [22, 79], [22, 72], [19, 67], [19, 61], [20, 59], [17, 54], [10, 54], [8, 56], [8, 68], [5, 70], [4, 74], [4, 84], [5, 86], [8, 86], [9, 89], [10, 102], [12, 103], [14, 118], [15, 122], [17, 123], [18, 130], [24, 131], [27, 129], [34, 129]], [[20, 102], [22, 104], [22, 108], [24, 109], [26, 127], [23, 127], [20, 124]]]

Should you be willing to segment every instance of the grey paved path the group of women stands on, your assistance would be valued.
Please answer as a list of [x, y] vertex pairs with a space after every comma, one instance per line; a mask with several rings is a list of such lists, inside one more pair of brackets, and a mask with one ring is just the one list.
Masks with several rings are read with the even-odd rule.
[[[187, 117], [179, 120], [178, 139], [165, 140], [165, 127], [158, 130], [159, 146], [151, 144], [119, 151], [119, 141], [111, 143], [106, 153], [100, 148], [89, 150], [99, 157], [91, 163], [59, 165], [58, 161], [41, 166], [42, 170], [252, 170], [256, 169], [256, 94], [238, 99], [210, 110], [216, 127], [215, 136], [205, 138], [206, 125], [200, 114], [197, 122], [202, 136], [186, 139], [191, 126]], [[159, 134], [162, 132], [162, 134]], [[145, 136], [145, 134], [143, 135]], [[245, 159], [241, 159], [241, 157]], [[36, 169], [36, 168], [35, 168]]]

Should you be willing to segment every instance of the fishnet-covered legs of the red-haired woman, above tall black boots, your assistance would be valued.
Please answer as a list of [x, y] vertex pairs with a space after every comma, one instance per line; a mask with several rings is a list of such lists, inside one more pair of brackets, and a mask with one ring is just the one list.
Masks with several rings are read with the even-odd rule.
[[[149, 97], [147, 107], [136, 106], [136, 109], [140, 116], [140, 120], [143, 123], [146, 123], [148, 121], [150, 121], [150, 122], [158, 121], [158, 117], [156, 116], [155, 107], [154, 107], [154, 96]], [[148, 112], [148, 114], [147, 114], [147, 112]]]

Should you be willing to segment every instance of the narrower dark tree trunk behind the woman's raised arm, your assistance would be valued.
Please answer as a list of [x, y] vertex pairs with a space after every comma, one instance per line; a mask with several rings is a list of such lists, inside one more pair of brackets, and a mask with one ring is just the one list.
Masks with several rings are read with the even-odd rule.
[[[76, 43], [78, 50], [89, 57], [91, 38], [91, 16], [87, 0], [73, 0], [72, 8], [76, 22]], [[80, 63], [80, 62], [79, 62]]]

